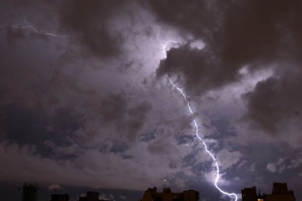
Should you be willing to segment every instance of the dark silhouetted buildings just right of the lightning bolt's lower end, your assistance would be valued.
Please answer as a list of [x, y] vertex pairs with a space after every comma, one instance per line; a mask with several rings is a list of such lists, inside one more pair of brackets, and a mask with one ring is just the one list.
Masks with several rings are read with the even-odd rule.
[[256, 193], [256, 186], [244, 188], [241, 190], [242, 201], [295, 201], [292, 190], [287, 189], [287, 183], [273, 183], [271, 194]]

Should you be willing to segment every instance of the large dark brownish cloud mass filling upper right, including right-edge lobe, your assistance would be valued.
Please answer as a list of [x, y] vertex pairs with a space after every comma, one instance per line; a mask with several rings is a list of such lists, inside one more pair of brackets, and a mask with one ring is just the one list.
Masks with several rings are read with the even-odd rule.
[[[249, 73], [273, 69], [243, 97], [241, 121], [269, 134], [300, 132], [302, 5], [298, 1], [196, 2], [149, 1], [158, 21], [193, 40], [167, 51], [157, 75], [175, 76], [190, 95], [204, 94], [243, 81]], [[193, 47], [196, 40], [205, 47]], [[273, 68], [272, 68], [273, 66]], [[193, 98], [193, 96], [191, 96]], [[294, 137], [295, 136], [295, 137]]]

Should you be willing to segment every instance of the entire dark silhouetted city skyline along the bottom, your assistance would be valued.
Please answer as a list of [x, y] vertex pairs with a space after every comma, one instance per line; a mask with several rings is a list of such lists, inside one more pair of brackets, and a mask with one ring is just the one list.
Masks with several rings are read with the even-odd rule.
[[[21, 189], [19, 189], [21, 190]], [[78, 196], [71, 195], [69, 198], [69, 193], [65, 192], [54, 192], [51, 193], [51, 199], [39, 196], [43, 188], [39, 186], [37, 182], [23, 183], [22, 187], [22, 201], [38, 201], [38, 200], [47, 200], [47, 201], [113, 201], [113, 195], [106, 195], [100, 193], [99, 191], [87, 191], [85, 194], [82, 193]], [[142, 193], [142, 192], [141, 192]], [[79, 193], [78, 193], [79, 194]], [[271, 192], [261, 193], [260, 189], [257, 189], [257, 186], [244, 187], [241, 189], [241, 195], [239, 199], [242, 201], [278, 201], [278, 200], [287, 200], [294, 201], [295, 196], [294, 192], [291, 189], [288, 189], [287, 183], [274, 182]], [[49, 195], [48, 195], [49, 196]], [[78, 197], [78, 198], [75, 198]], [[122, 198], [122, 197], [120, 197]], [[133, 199], [136, 201], [199, 201], [203, 200], [203, 195], [199, 194], [198, 191], [194, 189], [184, 189], [182, 192], [175, 192], [166, 184], [163, 186], [162, 191], [158, 191], [156, 186], [150, 188], [148, 187], [141, 198]], [[18, 200], [16, 198], [13, 198]], [[13, 200], [12, 198], [9, 200]], [[224, 197], [220, 197], [217, 191], [217, 197], [215, 200], [224, 200]]]

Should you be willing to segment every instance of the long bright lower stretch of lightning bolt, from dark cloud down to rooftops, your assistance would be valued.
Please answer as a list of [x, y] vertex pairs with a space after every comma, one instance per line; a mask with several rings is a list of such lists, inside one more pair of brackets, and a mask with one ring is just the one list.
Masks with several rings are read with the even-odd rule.
[[233, 193], [233, 192], [232, 192], [232, 193], [225, 192], [225, 191], [223, 191], [221, 188], [219, 188], [219, 186], [217, 185], [217, 183], [218, 183], [218, 181], [219, 181], [219, 178], [220, 178], [220, 174], [219, 174], [219, 166], [218, 166], [217, 160], [216, 160], [216, 158], [214, 157], [214, 155], [208, 150], [206, 144], [204, 143], [204, 141], [202, 140], [202, 138], [199, 137], [199, 135], [198, 135], [198, 125], [197, 125], [197, 122], [196, 122], [196, 120], [195, 120], [195, 118], [194, 118], [194, 116], [193, 116], [193, 111], [192, 111], [192, 109], [191, 109], [190, 102], [189, 102], [189, 100], [187, 99], [186, 95], [184, 94], [183, 90], [180, 89], [180, 88], [178, 88], [178, 87], [173, 83], [173, 81], [172, 81], [171, 78], [168, 76], [168, 74], [166, 74], [166, 76], [168, 77], [170, 83], [171, 83], [171, 84], [172, 84], [172, 85], [173, 85], [173, 86], [174, 86], [174, 87], [182, 94], [182, 96], [184, 97], [185, 101], [187, 102], [188, 109], [189, 109], [189, 111], [190, 111], [190, 113], [191, 113], [191, 115], [192, 115], [192, 117], [193, 117], [193, 122], [194, 122], [194, 125], [195, 125], [195, 128], [196, 128], [195, 134], [196, 134], [197, 138], [202, 142], [202, 144], [203, 144], [203, 146], [204, 146], [204, 148], [205, 148], [205, 151], [206, 151], [206, 152], [212, 157], [212, 159], [213, 159], [213, 162], [214, 162], [214, 164], [215, 164], [215, 166], [216, 166], [216, 178], [215, 178], [215, 182], [214, 182], [215, 187], [216, 187], [221, 193], [223, 193], [223, 194], [225, 194], [225, 195], [235, 196], [235, 201], [237, 201], [238, 197], [237, 197], [237, 195], [236, 195], [235, 193]]

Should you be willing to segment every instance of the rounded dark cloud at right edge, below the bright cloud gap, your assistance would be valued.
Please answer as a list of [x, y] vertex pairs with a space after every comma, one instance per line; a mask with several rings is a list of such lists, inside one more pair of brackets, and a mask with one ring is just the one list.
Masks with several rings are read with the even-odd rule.
[[[286, 67], [285, 67], [286, 68]], [[246, 93], [248, 111], [243, 117], [251, 122], [251, 128], [284, 135], [294, 129], [301, 132], [302, 85], [300, 69], [290, 67], [281, 76], [259, 81], [254, 90]]]

